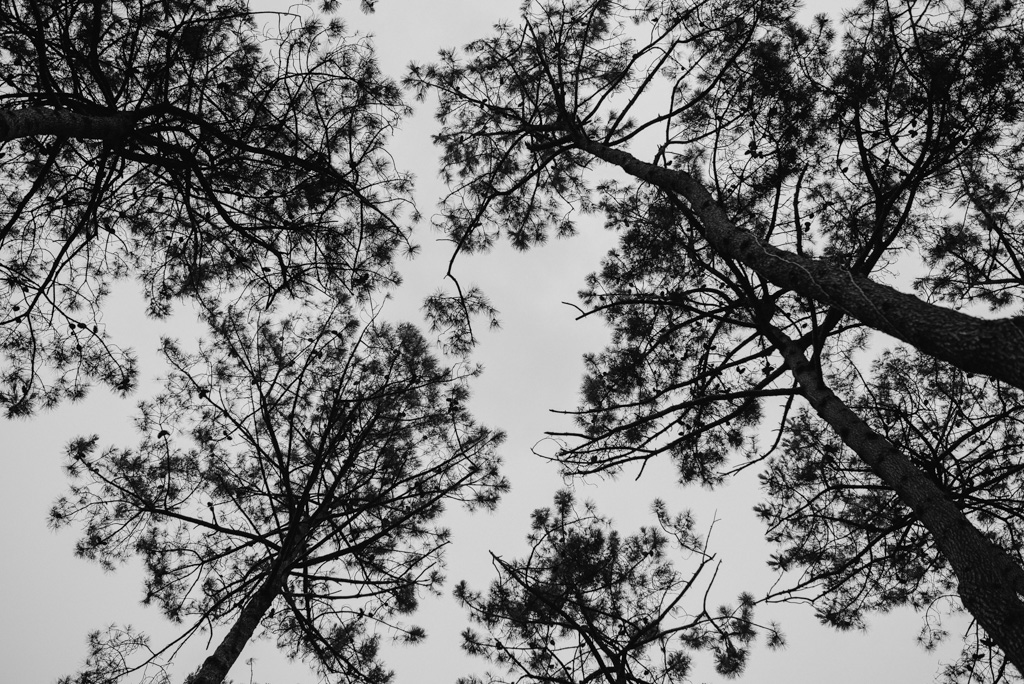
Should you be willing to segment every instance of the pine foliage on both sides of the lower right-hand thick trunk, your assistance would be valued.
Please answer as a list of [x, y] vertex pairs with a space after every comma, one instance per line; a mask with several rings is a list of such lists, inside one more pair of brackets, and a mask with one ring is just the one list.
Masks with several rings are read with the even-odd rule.
[[[922, 354], [897, 348], [870, 376], [851, 378], [851, 408], [971, 517], [989, 539], [1019, 557], [1024, 544], [1024, 402], [1020, 392], [979, 382]], [[892, 489], [880, 486], [837, 435], [801, 410], [762, 481], [758, 507], [771, 564], [802, 568], [780, 592], [810, 589], [823, 622], [862, 627], [865, 610], [909, 604], [927, 609], [926, 645], [944, 636], [943, 603], [956, 586], [928, 530]], [[972, 625], [950, 680], [1000, 681], [1002, 655]]]

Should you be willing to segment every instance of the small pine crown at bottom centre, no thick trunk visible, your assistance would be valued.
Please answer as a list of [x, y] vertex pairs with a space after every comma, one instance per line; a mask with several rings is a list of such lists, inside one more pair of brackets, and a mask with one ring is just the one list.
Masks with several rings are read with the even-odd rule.
[[[710, 610], [714, 576], [701, 573], [714, 556], [693, 533], [693, 519], [671, 516], [662, 502], [654, 514], [659, 528], [623, 539], [592, 504], [580, 511], [570, 491], [559, 491], [554, 509], [534, 512], [524, 558], [492, 554], [498, 580], [485, 596], [465, 582], [456, 588], [487, 631], [466, 630], [463, 648], [506, 671], [488, 674], [487, 684], [685, 682], [690, 652], [698, 650], [714, 653], [720, 674], [742, 672], [758, 631], [754, 598], [743, 594], [735, 608]], [[669, 560], [674, 553], [693, 557], [696, 568], [680, 573]], [[766, 632], [769, 646], [782, 645], [776, 627]]]

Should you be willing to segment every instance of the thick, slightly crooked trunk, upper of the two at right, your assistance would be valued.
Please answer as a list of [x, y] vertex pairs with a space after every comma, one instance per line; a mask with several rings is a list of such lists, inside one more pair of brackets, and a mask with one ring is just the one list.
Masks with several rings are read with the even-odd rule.
[[772, 247], [736, 227], [703, 185], [685, 171], [648, 164], [583, 135], [574, 136], [573, 142], [630, 175], [685, 200], [700, 220], [703, 238], [723, 257], [964, 371], [1024, 389], [1024, 317], [976, 318], [854, 275], [828, 261]]

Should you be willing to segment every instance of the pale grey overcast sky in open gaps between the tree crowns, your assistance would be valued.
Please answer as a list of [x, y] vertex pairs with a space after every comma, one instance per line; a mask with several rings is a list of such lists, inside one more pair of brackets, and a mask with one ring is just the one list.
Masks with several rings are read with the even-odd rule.
[[[355, 5], [354, 0], [343, 3], [342, 14], [353, 28], [375, 35], [381, 67], [394, 77], [400, 77], [411, 60], [429, 61], [438, 48], [461, 45], [484, 35], [499, 19], [515, 18], [518, 8], [518, 2], [508, 0], [381, 0], [376, 13], [364, 16]], [[808, 11], [830, 9], [822, 5]], [[417, 202], [425, 220], [417, 228], [416, 241], [423, 253], [402, 265], [406, 283], [387, 307], [388, 317], [413, 320], [419, 319], [423, 297], [442, 285], [450, 255], [450, 245], [439, 241], [429, 225], [432, 208], [443, 193], [436, 173], [438, 153], [430, 141], [436, 126], [432, 103], [416, 108], [391, 151], [399, 168], [417, 175]], [[555, 467], [531, 450], [543, 448], [539, 442], [546, 430], [566, 427], [564, 419], [549, 410], [577, 405], [582, 355], [599, 351], [607, 341], [597, 318], [575, 320], [574, 309], [563, 302], [575, 300], [584, 277], [597, 267], [613, 239], [595, 218], [585, 222], [575, 238], [527, 253], [503, 246], [487, 255], [462, 258], [457, 265], [460, 280], [478, 285], [501, 311], [502, 329], [481, 333], [476, 360], [485, 370], [473, 384], [469, 405], [479, 421], [507, 431], [502, 453], [512, 491], [495, 513], [470, 516], [453, 511], [446, 518], [454, 533], [449, 587], [442, 597], [425, 600], [412, 619], [427, 628], [428, 639], [418, 646], [386, 649], [397, 684], [454, 683], [459, 676], [484, 670], [482, 660], [459, 650], [459, 633], [467, 619], [451, 598], [451, 586], [465, 579], [484, 589], [492, 579], [487, 551], [506, 557], [521, 554], [529, 512], [550, 505], [554, 491], [566, 485]], [[92, 433], [99, 433], [102, 443], [135, 442], [131, 425], [135, 402], [156, 391], [156, 379], [164, 372], [156, 355], [160, 337], [194, 341], [200, 335], [186, 307], [162, 322], [147, 319], [142, 312], [141, 299], [131, 288], [116, 291], [105, 311], [112, 336], [139, 352], [145, 382], [135, 395], [121, 399], [96, 388], [81, 402], [30, 420], [6, 421], [0, 427], [0, 458], [5, 461], [0, 478], [4, 546], [0, 679], [4, 681], [48, 683], [71, 674], [85, 656], [86, 634], [111, 623], [131, 623], [153, 634], [155, 642], [160, 635], [173, 634], [155, 608], [139, 605], [142, 587], [137, 566], [129, 563], [103, 572], [74, 556], [74, 529], [54, 532], [46, 526], [49, 507], [67, 486], [60, 468], [67, 442]], [[624, 533], [651, 522], [649, 506], [654, 498], [664, 499], [674, 511], [691, 509], [697, 528], [705, 532], [714, 521], [711, 551], [722, 564], [713, 603], [731, 601], [740, 591], [758, 595], [768, 589], [773, 576], [764, 562], [771, 549], [752, 511], [759, 501], [754, 473], [715, 491], [677, 486], [667, 464], [652, 464], [642, 477], [634, 476], [625, 473], [613, 481], [593, 478], [573, 485], [580, 499], [597, 502]], [[915, 644], [921, 616], [908, 610], [872, 616], [866, 632], [843, 634], [819, 626], [807, 606], [768, 606], [759, 617], [781, 623], [788, 645], [776, 652], [755, 647], [740, 682], [930, 682], [939, 669], [942, 652], [926, 653]], [[205, 645], [197, 640], [184, 653], [186, 659], [198, 662]], [[945, 655], [950, 655], [949, 648]], [[248, 658], [253, 658], [251, 671], [244, 662]], [[721, 680], [709, 667], [710, 658], [696, 659], [698, 671], [692, 681]], [[247, 648], [232, 678], [274, 684], [314, 681], [303, 664], [284, 661], [265, 641]]]

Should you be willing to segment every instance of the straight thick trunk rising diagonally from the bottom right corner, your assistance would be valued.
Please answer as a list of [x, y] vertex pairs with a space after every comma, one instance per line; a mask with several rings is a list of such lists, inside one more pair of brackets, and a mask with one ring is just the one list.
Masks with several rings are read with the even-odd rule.
[[964, 607], [1024, 673], [1024, 569], [902, 452], [836, 396], [800, 346], [777, 330], [771, 338], [811, 408], [914, 512], [956, 575]]

